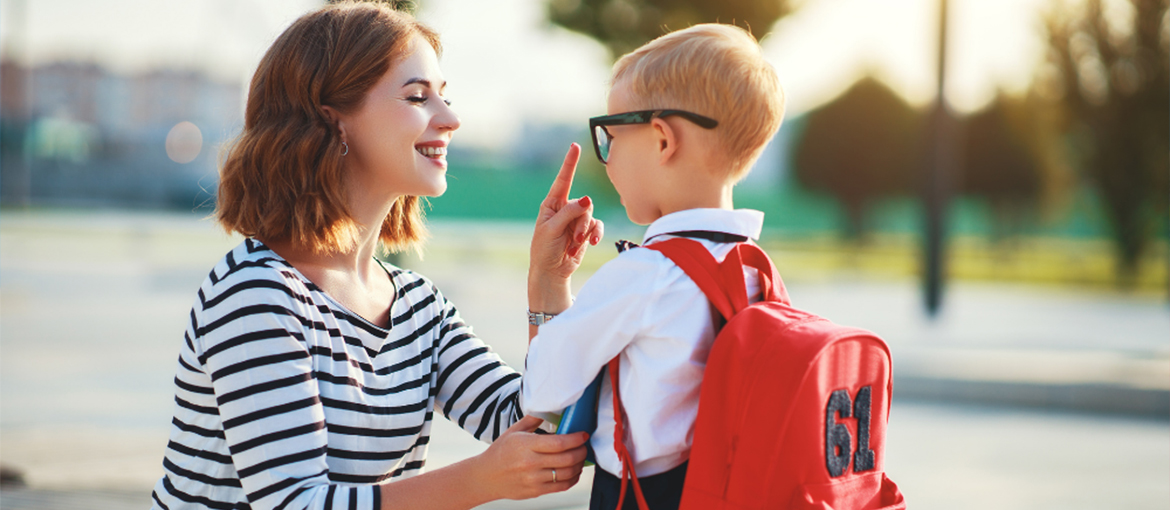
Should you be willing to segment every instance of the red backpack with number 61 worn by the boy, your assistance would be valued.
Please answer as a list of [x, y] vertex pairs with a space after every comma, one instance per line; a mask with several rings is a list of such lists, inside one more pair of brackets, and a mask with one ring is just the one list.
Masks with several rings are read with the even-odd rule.
[[[886, 343], [792, 308], [755, 244], [737, 244], [722, 263], [687, 239], [646, 248], [677, 264], [727, 318], [703, 374], [680, 509], [904, 509], [883, 473], [892, 391]], [[763, 299], [750, 305], [744, 266], [760, 275]], [[622, 441], [617, 363], [610, 377], [621, 495], [628, 476], [645, 509]]]

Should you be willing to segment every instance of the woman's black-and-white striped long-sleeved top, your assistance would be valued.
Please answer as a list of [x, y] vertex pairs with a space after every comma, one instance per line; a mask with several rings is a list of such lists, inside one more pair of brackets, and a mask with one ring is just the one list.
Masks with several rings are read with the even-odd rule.
[[434, 284], [387, 267], [390, 329], [246, 240], [199, 289], [179, 353], [158, 509], [377, 509], [422, 471], [435, 409], [493, 441], [521, 375]]

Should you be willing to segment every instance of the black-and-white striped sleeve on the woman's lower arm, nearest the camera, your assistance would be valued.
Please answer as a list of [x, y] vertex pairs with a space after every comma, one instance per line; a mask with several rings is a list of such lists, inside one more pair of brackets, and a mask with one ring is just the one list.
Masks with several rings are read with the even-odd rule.
[[377, 485], [329, 481], [325, 414], [305, 339], [325, 326], [308, 318], [308, 299], [278, 277], [220, 294], [197, 306], [194, 346], [250, 506], [378, 508]]

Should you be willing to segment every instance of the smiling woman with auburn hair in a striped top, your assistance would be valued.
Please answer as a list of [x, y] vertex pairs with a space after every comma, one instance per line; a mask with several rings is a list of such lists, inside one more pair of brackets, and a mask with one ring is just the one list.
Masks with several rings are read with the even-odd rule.
[[[247, 239], [192, 309], [156, 508], [466, 509], [577, 482], [584, 434], [534, 434], [519, 374], [434, 284], [374, 259], [417, 244], [419, 197], [446, 189], [459, 118], [438, 53], [408, 15], [344, 4], [264, 55], [219, 186], [218, 221]], [[578, 152], [537, 220], [534, 303], [563, 308], [601, 235], [567, 199]], [[491, 446], [422, 473], [435, 409]]]

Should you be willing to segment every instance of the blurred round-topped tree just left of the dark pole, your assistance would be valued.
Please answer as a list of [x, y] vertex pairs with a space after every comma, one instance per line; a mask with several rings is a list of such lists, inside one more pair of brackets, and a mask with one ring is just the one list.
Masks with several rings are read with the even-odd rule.
[[796, 178], [845, 208], [847, 237], [867, 230], [882, 198], [913, 195], [922, 182], [925, 118], [881, 82], [866, 77], [808, 113], [796, 153]]

